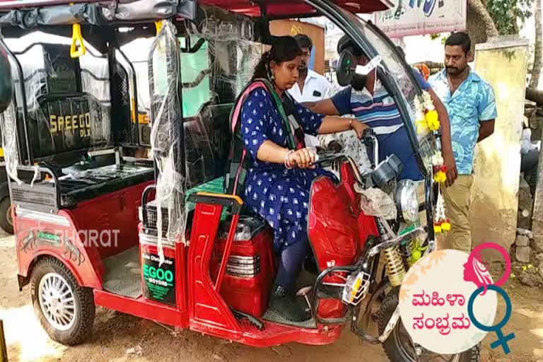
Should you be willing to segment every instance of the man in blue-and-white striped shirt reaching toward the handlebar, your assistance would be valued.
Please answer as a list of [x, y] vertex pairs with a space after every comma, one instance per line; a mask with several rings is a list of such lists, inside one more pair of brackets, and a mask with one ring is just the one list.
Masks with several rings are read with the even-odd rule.
[[[363, 54], [354, 42], [346, 35], [339, 40], [337, 51], [339, 54], [349, 49], [356, 57], [359, 65], [366, 65], [369, 59]], [[445, 165], [448, 168], [447, 184], [452, 185], [456, 179], [455, 160], [450, 146], [450, 132], [448, 116], [445, 107], [433, 93], [430, 85], [420, 73], [414, 71], [421, 88], [431, 94], [433, 103], [438, 111], [442, 126], [442, 152]], [[332, 98], [317, 103], [304, 103], [313, 112], [326, 115], [354, 115], [358, 121], [368, 124], [375, 132], [379, 141], [379, 158], [384, 160], [394, 153], [404, 165], [399, 180], [422, 180], [419, 165], [416, 162], [413, 149], [409, 143], [407, 131], [402, 117], [397, 110], [395, 100], [388, 94], [385, 87], [377, 79], [375, 69], [368, 76], [355, 76], [351, 86], [339, 91]], [[373, 155], [368, 155], [370, 158]]]

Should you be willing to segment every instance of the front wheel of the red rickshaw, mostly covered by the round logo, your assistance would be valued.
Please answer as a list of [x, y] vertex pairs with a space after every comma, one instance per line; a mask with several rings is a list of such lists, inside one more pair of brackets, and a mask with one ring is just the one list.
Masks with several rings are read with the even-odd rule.
[[[385, 296], [385, 300], [381, 304], [378, 312], [378, 327], [379, 334], [383, 334], [385, 327], [387, 326], [392, 313], [396, 310], [399, 303], [398, 301], [398, 288], [392, 289], [390, 293]], [[433, 362], [433, 361], [446, 361], [446, 362], [479, 362], [481, 354], [481, 346], [477, 344], [471, 349], [462, 352], [461, 354], [432, 354], [431, 352], [424, 352], [418, 358], [413, 344], [411, 343], [411, 337], [407, 333], [407, 330], [399, 320], [396, 327], [390, 333], [390, 336], [383, 343], [383, 349], [387, 354], [390, 362]]]

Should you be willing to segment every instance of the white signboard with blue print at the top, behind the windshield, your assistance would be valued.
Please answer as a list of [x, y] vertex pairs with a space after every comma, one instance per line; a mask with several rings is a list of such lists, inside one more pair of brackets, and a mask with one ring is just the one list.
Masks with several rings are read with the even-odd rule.
[[466, 29], [466, 0], [392, 0], [394, 6], [375, 13], [388, 37], [445, 33]]

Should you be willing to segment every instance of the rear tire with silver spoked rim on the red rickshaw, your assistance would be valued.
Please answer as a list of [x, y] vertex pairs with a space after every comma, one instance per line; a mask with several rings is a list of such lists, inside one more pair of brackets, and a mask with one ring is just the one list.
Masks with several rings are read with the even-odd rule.
[[37, 262], [30, 277], [30, 296], [34, 313], [54, 341], [74, 346], [91, 334], [95, 316], [93, 291], [79, 286], [59, 260], [49, 257]]

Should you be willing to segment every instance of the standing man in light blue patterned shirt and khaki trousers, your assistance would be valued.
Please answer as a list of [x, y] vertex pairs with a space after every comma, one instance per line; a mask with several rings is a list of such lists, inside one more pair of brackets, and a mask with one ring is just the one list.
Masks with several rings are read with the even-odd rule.
[[453, 248], [468, 253], [472, 250], [469, 200], [475, 144], [494, 133], [494, 119], [498, 115], [492, 87], [467, 65], [472, 56], [471, 46], [466, 33], [450, 35], [445, 42], [445, 69], [428, 79], [447, 108], [458, 169], [455, 184], [443, 188], [452, 224], [448, 241]]

